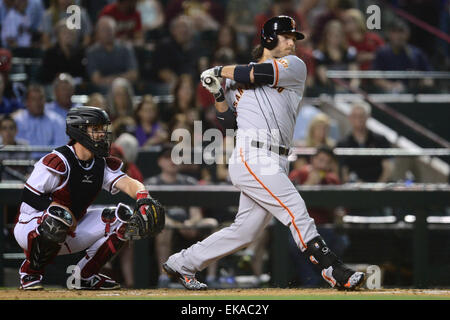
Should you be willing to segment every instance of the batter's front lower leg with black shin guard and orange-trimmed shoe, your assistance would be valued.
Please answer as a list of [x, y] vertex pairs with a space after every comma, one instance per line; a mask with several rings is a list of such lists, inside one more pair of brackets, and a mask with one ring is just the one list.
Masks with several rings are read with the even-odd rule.
[[315, 237], [307, 243], [305, 251], [308, 259], [321, 270], [322, 278], [337, 289], [355, 290], [360, 287], [365, 275], [347, 267], [328, 248], [321, 236]]

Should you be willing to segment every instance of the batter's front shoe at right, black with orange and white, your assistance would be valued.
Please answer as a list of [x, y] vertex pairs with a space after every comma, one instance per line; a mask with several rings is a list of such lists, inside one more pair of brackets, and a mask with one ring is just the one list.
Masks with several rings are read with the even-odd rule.
[[322, 278], [332, 288], [338, 290], [357, 290], [365, 279], [364, 272], [353, 271], [352, 269], [342, 265], [336, 267], [328, 267], [322, 270]]

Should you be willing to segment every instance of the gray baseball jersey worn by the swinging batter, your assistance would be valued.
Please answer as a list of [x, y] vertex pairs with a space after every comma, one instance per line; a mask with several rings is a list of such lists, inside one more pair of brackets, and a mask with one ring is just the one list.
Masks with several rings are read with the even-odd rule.
[[306, 65], [294, 55], [264, 62], [273, 65], [274, 82], [271, 85], [248, 90], [227, 79], [225, 99], [228, 106], [234, 107], [237, 112], [238, 137], [248, 135], [248, 132], [266, 130], [267, 139], [259, 138], [289, 147], [303, 98]]

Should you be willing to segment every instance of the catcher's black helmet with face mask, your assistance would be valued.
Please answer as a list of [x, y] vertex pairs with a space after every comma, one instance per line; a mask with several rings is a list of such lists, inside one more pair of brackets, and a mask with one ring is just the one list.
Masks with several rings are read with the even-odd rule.
[[[73, 140], [92, 151], [98, 157], [107, 157], [111, 145], [111, 124], [105, 110], [96, 107], [75, 107], [69, 110], [66, 117], [66, 133]], [[101, 125], [103, 137], [94, 140], [87, 132], [88, 126]], [[98, 131], [97, 131], [98, 132]]]

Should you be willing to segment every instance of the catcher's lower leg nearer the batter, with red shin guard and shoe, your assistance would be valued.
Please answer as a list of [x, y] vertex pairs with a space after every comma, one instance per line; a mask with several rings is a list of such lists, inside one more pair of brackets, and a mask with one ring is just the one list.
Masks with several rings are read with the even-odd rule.
[[100, 269], [113, 259], [127, 239], [124, 233], [128, 221], [132, 216], [131, 209], [119, 203], [117, 207], [103, 209], [101, 219], [105, 224], [104, 237], [96, 241], [86, 250], [86, 255], [78, 263], [79, 275], [75, 276], [71, 288], [78, 290], [114, 290], [119, 289], [120, 284], [110, 277], [100, 274]]

